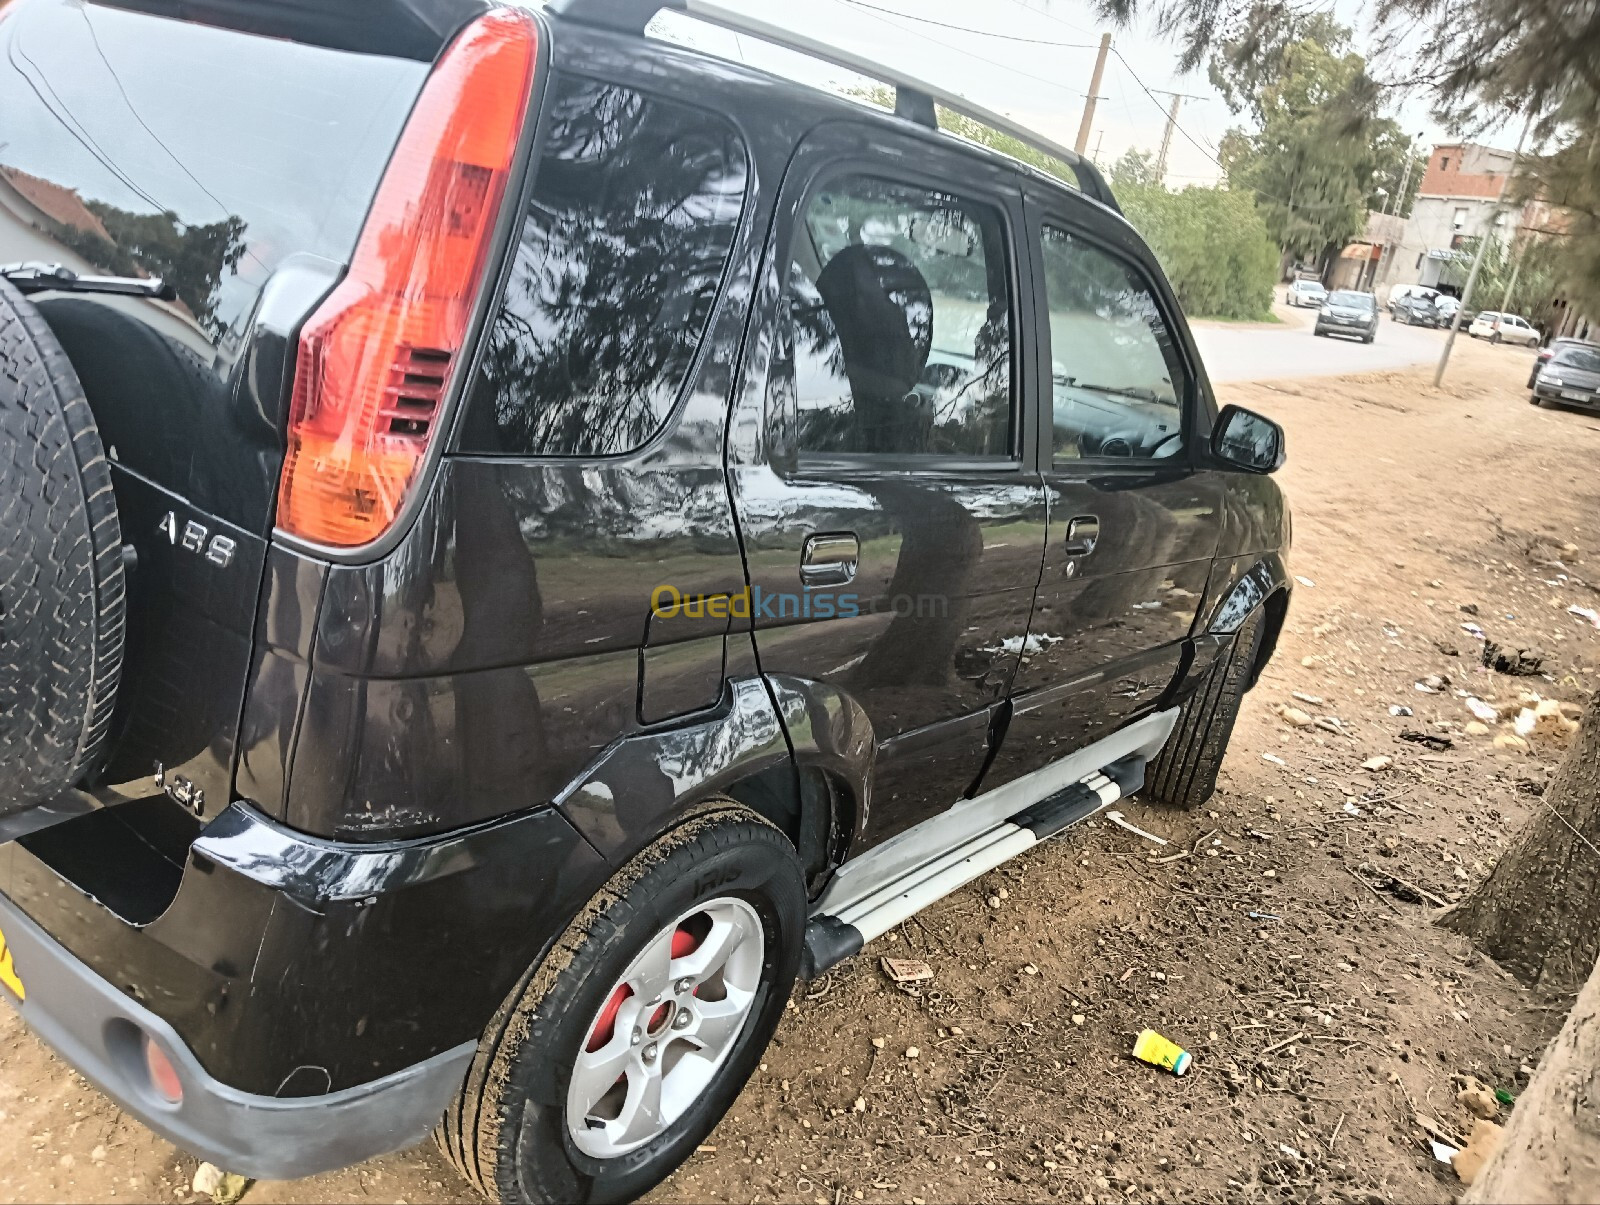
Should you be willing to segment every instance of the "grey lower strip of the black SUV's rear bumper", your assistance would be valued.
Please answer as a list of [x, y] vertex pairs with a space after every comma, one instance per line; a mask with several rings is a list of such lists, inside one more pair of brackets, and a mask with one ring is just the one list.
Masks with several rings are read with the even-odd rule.
[[[118, 992], [0, 896], [0, 931], [27, 992], [5, 989], [22, 1019], [125, 1112], [221, 1168], [290, 1179], [398, 1151], [427, 1135], [461, 1085], [477, 1048], [466, 1042], [416, 1066], [325, 1096], [258, 1096], [221, 1083], [178, 1032]], [[182, 1101], [149, 1083], [147, 1035], [171, 1059]]]

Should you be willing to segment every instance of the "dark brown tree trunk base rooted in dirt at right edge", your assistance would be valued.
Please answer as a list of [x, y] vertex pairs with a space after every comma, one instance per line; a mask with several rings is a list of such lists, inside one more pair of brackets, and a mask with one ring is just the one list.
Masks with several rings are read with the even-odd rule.
[[1600, 695], [1517, 843], [1440, 923], [1523, 983], [1576, 991], [1589, 978], [1600, 957]]

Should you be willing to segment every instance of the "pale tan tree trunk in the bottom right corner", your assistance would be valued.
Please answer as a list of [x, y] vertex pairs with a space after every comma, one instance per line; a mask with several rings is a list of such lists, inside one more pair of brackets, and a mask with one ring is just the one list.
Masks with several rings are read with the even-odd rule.
[[1600, 965], [1462, 1205], [1600, 1200]]

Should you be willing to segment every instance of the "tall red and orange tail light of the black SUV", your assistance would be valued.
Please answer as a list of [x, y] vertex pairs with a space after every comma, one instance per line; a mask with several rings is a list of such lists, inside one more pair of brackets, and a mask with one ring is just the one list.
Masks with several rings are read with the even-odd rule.
[[533, 85], [533, 18], [493, 10], [434, 66], [344, 280], [306, 320], [278, 526], [378, 539], [438, 435]]

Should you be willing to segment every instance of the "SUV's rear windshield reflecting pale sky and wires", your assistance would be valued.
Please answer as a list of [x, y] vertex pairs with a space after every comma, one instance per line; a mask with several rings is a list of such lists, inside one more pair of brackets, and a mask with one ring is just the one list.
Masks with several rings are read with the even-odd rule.
[[237, 333], [286, 256], [349, 258], [426, 74], [22, 0], [0, 21], [0, 262], [158, 275], [179, 323]]

